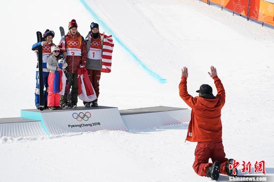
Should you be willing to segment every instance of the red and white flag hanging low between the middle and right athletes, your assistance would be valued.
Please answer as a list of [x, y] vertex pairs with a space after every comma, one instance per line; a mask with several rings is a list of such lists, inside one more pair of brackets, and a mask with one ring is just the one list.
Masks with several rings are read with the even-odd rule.
[[78, 97], [85, 102], [95, 100], [97, 96], [91, 85], [87, 69], [78, 68], [77, 75]]

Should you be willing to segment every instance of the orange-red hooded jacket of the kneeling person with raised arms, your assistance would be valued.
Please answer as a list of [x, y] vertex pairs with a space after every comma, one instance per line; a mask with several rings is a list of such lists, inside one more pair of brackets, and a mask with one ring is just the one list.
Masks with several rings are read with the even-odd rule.
[[192, 97], [187, 92], [185, 77], [179, 84], [180, 97], [192, 108], [186, 137], [190, 142], [222, 141], [221, 109], [226, 93], [221, 80], [213, 79], [218, 91], [216, 98]]

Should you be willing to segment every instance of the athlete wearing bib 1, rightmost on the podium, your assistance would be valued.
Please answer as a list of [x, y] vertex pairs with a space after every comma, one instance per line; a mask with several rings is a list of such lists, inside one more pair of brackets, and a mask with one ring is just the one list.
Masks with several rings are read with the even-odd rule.
[[101, 78], [101, 70], [102, 70], [102, 50], [103, 50], [103, 41], [104, 34], [99, 32], [99, 25], [97, 23], [92, 22], [90, 25], [91, 31], [88, 33], [86, 37], [87, 42], [87, 71], [90, 78], [90, 82], [95, 90], [97, 98], [91, 102], [85, 102], [85, 107], [98, 107], [98, 96], [99, 96], [99, 81]]

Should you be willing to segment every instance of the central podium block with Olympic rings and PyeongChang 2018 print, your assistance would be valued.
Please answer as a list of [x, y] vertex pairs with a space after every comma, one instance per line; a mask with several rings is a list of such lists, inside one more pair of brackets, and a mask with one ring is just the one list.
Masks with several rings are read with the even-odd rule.
[[60, 110], [21, 110], [21, 117], [41, 121], [47, 135], [98, 130], [128, 131], [117, 107], [77, 107]]

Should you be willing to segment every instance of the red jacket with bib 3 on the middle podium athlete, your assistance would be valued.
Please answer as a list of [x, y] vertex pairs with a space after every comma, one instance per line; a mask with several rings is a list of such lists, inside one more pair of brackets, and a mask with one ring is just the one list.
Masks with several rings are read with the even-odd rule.
[[[72, 41], [77, 42], [78, 44], [76, 48], [79, 49], [81, 55], [73, 55], [74, 51], [68, 50], [68, 49], [73, 49], [69, 47], [69, 43]], [[73, 42], [73, 43], [74, 43]], [[87, 46], [84, 38], [82, 35], [80, 35], [79, 32], [76, 33], [76, 35], [72, 36], [68, 32], [67, 35], [65, 35], [65, 43], [66, 43], [66, 51], [67, 51], [67, 57], [66, 57], [66, 62], [68, 63], [67, 66], [67, 71], [69, 73], [77, 73], [78, 68], [80, 65], [85, 65], [86, 66], [86, 60], [87, 60]], [[73, 45], [73, 44], [72, 44]], [[60, 42], [58, 45], [60, 48], [62, 48], [62, 43]], [[70, 51], [70, 52], [69, 52]], [[61, 49], [61, 52], [64, 52], [63, 49]], [[72, 55], [70, 53], [73, 53]]]

